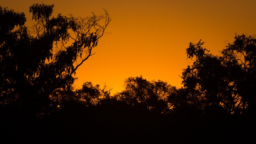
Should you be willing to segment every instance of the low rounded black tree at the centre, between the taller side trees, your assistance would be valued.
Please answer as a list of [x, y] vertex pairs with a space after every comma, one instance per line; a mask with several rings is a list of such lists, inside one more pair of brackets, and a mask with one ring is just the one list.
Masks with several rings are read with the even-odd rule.
[[174, 86], [158, 80], [149, 82], [140, 77], [130, 77], [124, 81], [125, 90], [117, 93], [117, 100], [127, 102], [139, 109], [150, 110], [159, 113], [168, 113], [174, 108], [174, 103], [169, 102]]

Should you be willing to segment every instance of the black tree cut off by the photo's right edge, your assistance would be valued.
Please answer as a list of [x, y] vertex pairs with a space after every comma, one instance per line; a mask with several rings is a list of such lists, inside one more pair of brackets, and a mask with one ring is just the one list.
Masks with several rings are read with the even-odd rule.
[[235, 35], [233, 43], [222, 50], [223, 62], [228, 69], [228, 79], [233, 87], [233, 95], [239, 100], [243, 112], [255, 110], [256, 104], [256, 38]]

